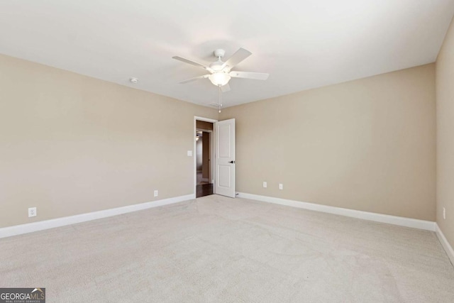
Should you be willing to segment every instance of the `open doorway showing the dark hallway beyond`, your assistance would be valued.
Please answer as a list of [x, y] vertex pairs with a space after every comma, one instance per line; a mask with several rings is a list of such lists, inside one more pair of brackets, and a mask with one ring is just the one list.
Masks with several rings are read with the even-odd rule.
[[196, 198], [214, 192], [213, 134], [213, 122], [196, 119]]

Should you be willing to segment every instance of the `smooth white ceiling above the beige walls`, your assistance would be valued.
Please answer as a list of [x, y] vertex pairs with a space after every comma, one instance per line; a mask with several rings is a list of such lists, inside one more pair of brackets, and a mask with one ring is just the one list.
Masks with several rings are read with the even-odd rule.
[[[454, 0], [0, 1], [0, 53], [208, 105], [217, 88], [179, 55], [253, 55], [225, 106], [434, 62]], [[139, 84], [128, 82], [137, 77]]]

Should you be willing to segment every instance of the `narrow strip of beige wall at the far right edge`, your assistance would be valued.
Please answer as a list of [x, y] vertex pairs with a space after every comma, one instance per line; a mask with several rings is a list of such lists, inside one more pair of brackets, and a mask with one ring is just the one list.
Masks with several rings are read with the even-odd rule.
[[454, 21], [436, 62], [436, 96], [437, 224], [454, 247]]

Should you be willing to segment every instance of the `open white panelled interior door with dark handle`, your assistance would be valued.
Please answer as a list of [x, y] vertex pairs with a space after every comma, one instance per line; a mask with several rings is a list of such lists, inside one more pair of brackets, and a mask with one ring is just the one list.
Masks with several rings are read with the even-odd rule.
[[216, 178], [214, 193], [235, 197], [235, 119], [214, 123]]

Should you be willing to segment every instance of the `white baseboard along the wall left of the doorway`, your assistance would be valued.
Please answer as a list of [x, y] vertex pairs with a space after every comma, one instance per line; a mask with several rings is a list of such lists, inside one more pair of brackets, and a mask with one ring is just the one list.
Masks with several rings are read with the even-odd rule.
[[21, 224], [15, 226], [8, 226], [0, 228], [0, 238], [6, 238], [10, 236], [17, 236], [23, 233], [33, 233], [33, 231], [43, 231], [49, 228], [55, 228], [60, 226], [66, 226], [70, 224], [77, 224], [86, 221], [92, 221], [96, 219], [106, 218], [108, 216], [116, 216], [118, 214], [126, 214], [133, 211], [140, 211], [142, 209], [150, 209], [157, 206], [164, 206], [167, 204], [173, 204], [183, 202], [191, 199], [196, 199], [195, 194], [187, 194], [185, 196], [173, 197], [168, 199], [157, 200], [153, 202], [145, 202], [140, 204], [133, 204], [128, 206], [117, 207], [115, 209], [105, 209], [102, 211], [94, 211], [87, 214], [77, 214], [75, 216], [65, 216], [63, 218], [38, 221], [28, 224]]

